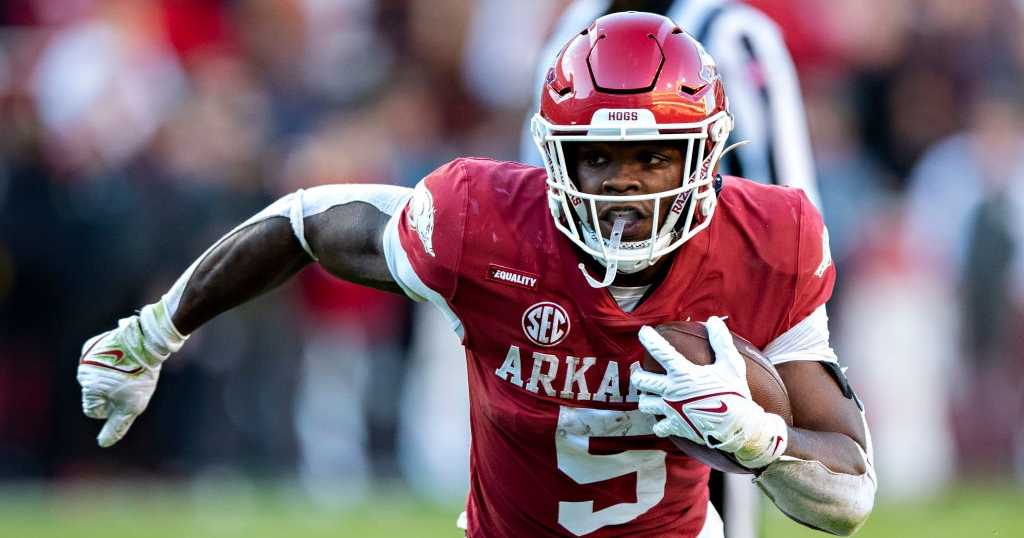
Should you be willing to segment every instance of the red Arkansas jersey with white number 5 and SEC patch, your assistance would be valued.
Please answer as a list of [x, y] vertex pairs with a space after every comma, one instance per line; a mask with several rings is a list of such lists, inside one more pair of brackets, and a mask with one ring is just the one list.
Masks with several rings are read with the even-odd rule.
[[711, 225], [627, 314], [587, 284], [546, 189], [542, 168], [457, 160], [398, 219], [411, 267], [462, 323], [468, 536], [695, 536], [710, 469], [637, 410], [637, 331], [725, 316], [764, 347], [831, 293], [821, 218], [802, 191], [726, 177]]

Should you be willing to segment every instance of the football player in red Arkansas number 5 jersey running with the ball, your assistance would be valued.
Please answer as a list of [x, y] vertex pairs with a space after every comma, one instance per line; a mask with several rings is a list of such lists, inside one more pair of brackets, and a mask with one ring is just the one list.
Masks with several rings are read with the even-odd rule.
[[[791, 518], [852, 534], [876, 480], [828, 343], [827, 234], [802, 191], [717, 173], [732, 121], [714, 60], [671, 19], [598, 18], [544, 83], [544, 168], [467, 158], [412, 190], [293, 193], [89, 339], [78, 379], [99, 444], [189, 333], [318, 262], [430, 301], [461, 337], [467, 536], [722, 536], [710, 468], [669, 436], [733, 454]], [[685, 319], [707, 322], [715, 364], [678, 367], [650, 329]], [[793, 426], [751, 400], [730, 330], [777, 365]], [[644, 349], [667, 374], [639, 368]]]

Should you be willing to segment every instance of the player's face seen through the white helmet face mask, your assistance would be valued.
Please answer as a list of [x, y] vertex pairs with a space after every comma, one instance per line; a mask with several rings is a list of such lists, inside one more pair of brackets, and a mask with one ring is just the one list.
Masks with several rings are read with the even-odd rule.
[[[575, 161], [580, 191], [592, 195], [648, 195], [676, 189], [683, 173], [683, 152], [658, 142], [583, 142]], [[662, 199], [664, 222], [675, 197]], [[598, 202], [597, 220], [604, 237], [617, 218], [626, 219], [624, 241], [650, 239], [654, 201]]]

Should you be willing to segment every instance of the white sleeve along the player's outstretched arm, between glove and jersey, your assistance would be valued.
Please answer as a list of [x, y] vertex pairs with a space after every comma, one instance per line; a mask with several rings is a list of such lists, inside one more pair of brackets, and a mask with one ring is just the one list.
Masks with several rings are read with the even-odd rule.
[[178, 301], [180, 301], [185, 285], [191, 278], [196, 267], [199, 266], [210, 251], [240, 230], [266, 220], [267, 218], [275, 216], [286, 217], [291, 222], [292, 231], [295, 233], [296, 239], [299, 240], [299, 244], [302, 245], [302, 249], [315, 260], [316, 255], [309, 248], [309, 243], [305, 237], [305, 226], [303, 224], [305, 217], [323, 213], [332, 207], [351, 202], [367, 203], [383, 213], [393, 215], [409, 200], [412, 193], [412, 189], [389, 184], [340, 183], [314, 187], [305, 191], [300, 189], [288, 194], [225, 234], [193, 262], [188, 270], [171, 286], [171, 289], [164, 294], [163, 300], [167, 306], [168, 315], [173, 317], [177, 311]]

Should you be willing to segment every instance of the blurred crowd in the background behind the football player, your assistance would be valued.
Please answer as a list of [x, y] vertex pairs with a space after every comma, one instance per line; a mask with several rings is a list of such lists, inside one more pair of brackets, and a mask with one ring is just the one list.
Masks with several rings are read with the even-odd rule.
[[[0, 2], [0, 480], [399, 479], [411, 301], [305, 270], [198, 331], [105, 450], [80, 346], [292, 190], [516, 159], [564, 3]], [[880, 491], [1024, 481], [1024, 2], [749, 3], [801, 77]]]

